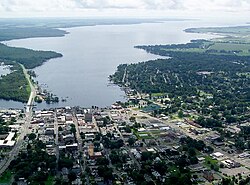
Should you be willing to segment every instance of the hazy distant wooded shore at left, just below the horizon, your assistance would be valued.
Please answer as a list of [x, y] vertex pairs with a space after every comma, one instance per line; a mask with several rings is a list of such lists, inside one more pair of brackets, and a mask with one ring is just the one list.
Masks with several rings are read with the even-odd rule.
[[0, 41], [34, 37], [62, 37], [68, 32], [58, 28], [155, 22], [148, 19], [1, 19]]

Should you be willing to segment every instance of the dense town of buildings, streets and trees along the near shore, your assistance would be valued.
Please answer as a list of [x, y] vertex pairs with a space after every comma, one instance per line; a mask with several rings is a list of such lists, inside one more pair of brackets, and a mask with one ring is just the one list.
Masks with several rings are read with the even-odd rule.
[[[164, 106], [154, 102], [155, 107]], [[130, 97], [108, 108], [1, 110], [0, 182], [250, 182], [250, 152], [230, 139], [247, 133], [243, 128], [249, 123], [225, 125], [222, 135], [183, 115], [155, 114], [154, 106], [147, 98]]]

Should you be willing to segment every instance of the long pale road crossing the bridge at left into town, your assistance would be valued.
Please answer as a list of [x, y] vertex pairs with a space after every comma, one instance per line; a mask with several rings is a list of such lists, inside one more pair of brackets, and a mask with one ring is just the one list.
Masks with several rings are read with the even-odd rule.
[[27, 102], [26, 114], [25, 114], [25, 116], [26, 116], [25, 117], [25, 122], [24, 122], [24, 124], [23, 124], [23, 126], [21, 128], [20, 135], [17, 138], [15, 146], [9, 152], [8, 157], [3, 159], [1, 161], [1, 163], [0, 163], [0, 175], [5, 170], [7, 170], [7, 168], [9, 167], [9, 165], [11, 163], [11, 161], [14, 160], [16, 158], [16, 156], [18, 155], [18, 153], [19, 153], [19, 151], [21, 149], [21, 146], [23, 144], [24, 137], [29, 133], [29, 126], [30, 126], [30, 123], [31, 123], [31, 120], [32, 120], [32, 111], [31, 110], [32, 110], [32, 107], [33, 107], [34, 98], [36, 96], [36, 89], [35, 89], [33, 83], [30, 80], [30, 76], [28, 75], [27, 70], [24, 68], [23, 65], [21, 65], [21, 66], [23, 68], [23, 73], [24, 73], [27, 81], [29, 82], [31, 92], [30, 92], [29, 100]]

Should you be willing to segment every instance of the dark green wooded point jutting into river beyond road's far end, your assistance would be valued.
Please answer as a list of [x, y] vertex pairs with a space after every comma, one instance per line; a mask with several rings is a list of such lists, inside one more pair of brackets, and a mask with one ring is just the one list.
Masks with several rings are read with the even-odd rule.
[[23, 64], [27, 69], [35, 68], [42, 65], [45, 61], [57, 57], [62, 57], [62, 54], [53, 51], [35, 51], [0, 44], [0, 60], [16, 61]]

